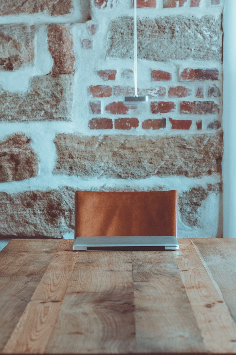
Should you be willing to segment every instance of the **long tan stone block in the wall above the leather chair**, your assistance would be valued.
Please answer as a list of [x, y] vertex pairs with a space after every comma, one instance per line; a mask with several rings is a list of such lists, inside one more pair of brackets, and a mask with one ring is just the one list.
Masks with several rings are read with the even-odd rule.
[[138, 137], [61, 133], [54, 142], [57, 163], [53, 174], [90, 179], [221, 174], [222, 132]]

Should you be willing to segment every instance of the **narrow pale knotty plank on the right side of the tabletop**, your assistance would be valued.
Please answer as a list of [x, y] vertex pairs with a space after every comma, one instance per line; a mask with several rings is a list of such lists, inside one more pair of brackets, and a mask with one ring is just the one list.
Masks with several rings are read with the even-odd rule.
[[[183, 239], [179, 244], [181, 251], [173, 254], [206, 349], [211, 353], [236, 352], [236, 324], [222, 295], [215, 288], [192, 241]], [[221, 265], [218, 264], [217, 269], [221, 269]]]

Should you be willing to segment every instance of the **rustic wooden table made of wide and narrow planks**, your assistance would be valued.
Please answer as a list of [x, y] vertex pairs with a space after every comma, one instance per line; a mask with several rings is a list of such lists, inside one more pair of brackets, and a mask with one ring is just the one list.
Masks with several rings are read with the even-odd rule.
[[236, 354], [236, 239], [143, 252], [73, 241], [1, 251], [1, 354]]

